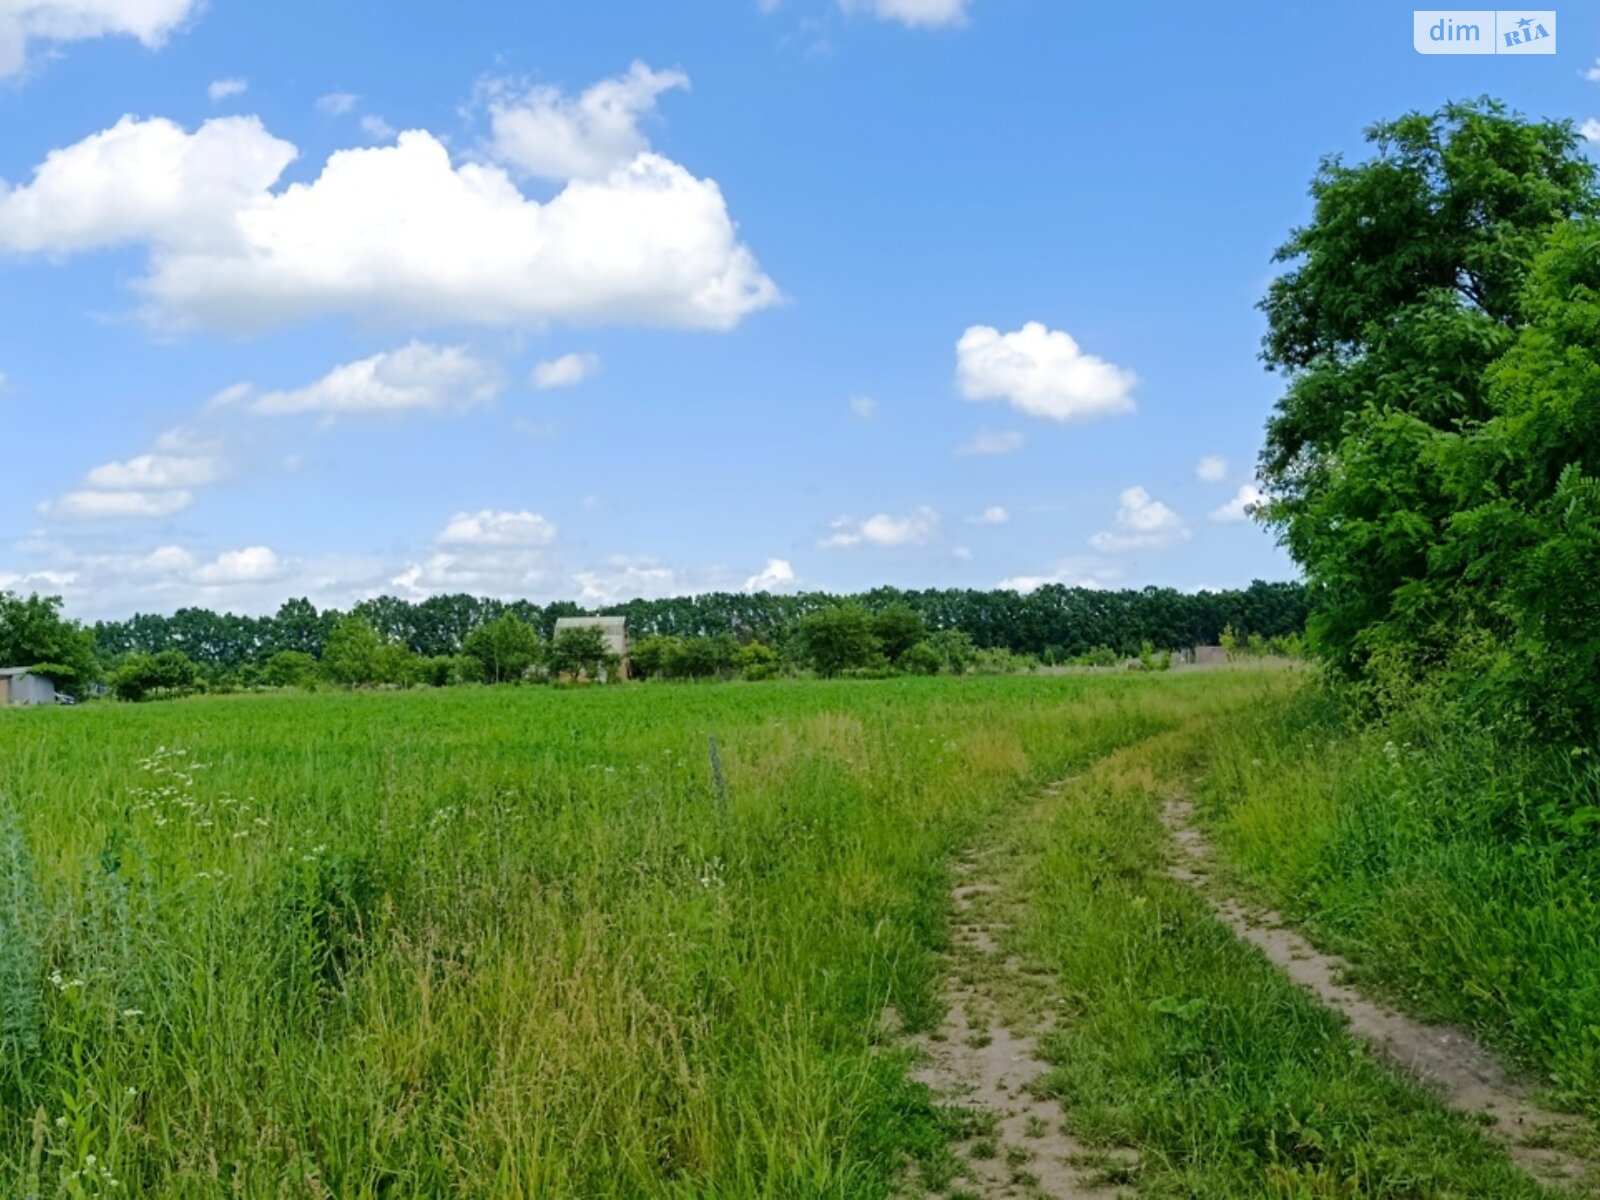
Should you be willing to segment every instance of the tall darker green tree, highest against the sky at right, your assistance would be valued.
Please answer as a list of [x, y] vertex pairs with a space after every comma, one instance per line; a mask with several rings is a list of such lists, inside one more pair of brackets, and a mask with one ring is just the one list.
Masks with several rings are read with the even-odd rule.
[[1264, 358], [1288, 386], [1261, 477], [1318, 651], [1418, 672], [1470, 616], [1437, 555], [1456, 443], [1494, 416], [1488, 368], [1528, 322], [1528, 272], [1552, 229], [1595, 211], [1595, 178], [1568, 123], [1488, 99], [1368, 141], [1362, 163], [1323, 162], [1312, 219], [1278, 251]]

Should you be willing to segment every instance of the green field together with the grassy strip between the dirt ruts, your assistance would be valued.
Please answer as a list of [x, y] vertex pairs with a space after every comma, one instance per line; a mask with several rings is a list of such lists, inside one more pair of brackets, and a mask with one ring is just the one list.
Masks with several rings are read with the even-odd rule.
[[1538, 1195], [1158, 874], [1126, 755], [1194, 755], [1291, 683], [3, 714], [0, 1195], [957, 1187], [960, 1115], [883, 1013], [938, 1024], [950, 867], [1000, 830], [1069, 1018], [1051, 1086], [1146, 1194]]

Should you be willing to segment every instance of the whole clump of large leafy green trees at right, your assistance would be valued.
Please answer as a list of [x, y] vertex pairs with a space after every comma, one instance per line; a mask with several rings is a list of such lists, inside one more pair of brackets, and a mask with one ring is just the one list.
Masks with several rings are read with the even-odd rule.
[[1566, 122], [1493, 101], [1323, 163], [1262, 309], [1288, 387], [1264, 515], [1314, 648], [1566, 741], [1600, 725], [1600, 190]]

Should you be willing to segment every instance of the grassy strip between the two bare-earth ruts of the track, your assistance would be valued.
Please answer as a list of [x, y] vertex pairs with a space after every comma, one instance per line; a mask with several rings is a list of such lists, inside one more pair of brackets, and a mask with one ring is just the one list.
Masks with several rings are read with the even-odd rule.
[[1107, 1174], [1141, 1197], [1549, 1195], [1166, 874], [1162, 805], [1221, 725], [1109, 755], [1016, 842], [1011, 949], [1058, 1005], [1038, 1086], [1088, 1144], [1133, 1150]]

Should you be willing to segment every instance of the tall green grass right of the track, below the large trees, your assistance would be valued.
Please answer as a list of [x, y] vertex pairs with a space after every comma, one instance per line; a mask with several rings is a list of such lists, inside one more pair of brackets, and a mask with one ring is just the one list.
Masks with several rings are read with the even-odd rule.
[[1219, 739], [1237, 870], [1413, 1011], [1477, 1029], [1600, 1118], [1600, 762], [1310, 686]]

